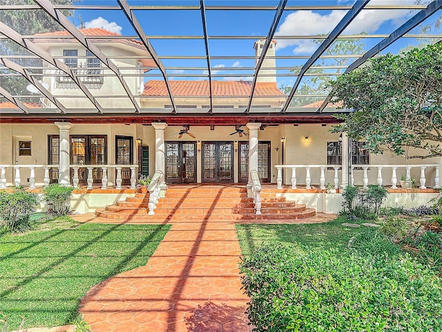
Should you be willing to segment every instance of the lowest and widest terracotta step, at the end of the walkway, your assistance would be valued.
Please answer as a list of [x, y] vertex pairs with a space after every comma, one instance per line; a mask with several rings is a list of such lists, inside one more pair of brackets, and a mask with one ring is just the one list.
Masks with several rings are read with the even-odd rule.
[[[290, 214], [290, 219], [309, 218], [316, 214], [314, 209], [306, 209], [305, 211], [294, 212]], [[167, 221], [169, 219], [181, 221], [193, 221], [202, 219], [220, 219], [220, 220], [272, 220], [272, 219], [288, 219], [287, 214], [160, 214], [155, 211], [155, 214], [149, 215], [146, 210], [142, 212], [137, 211], [133, 214], [115, 213], [106, 210], [95, 210], [95, 215], [108, 219], [146, 219], [153, 221]]]

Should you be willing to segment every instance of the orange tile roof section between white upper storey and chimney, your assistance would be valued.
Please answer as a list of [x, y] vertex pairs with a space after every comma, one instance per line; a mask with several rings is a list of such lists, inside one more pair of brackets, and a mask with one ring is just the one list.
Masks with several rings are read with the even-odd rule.
[[[209, 96], [209, 81], [169, 81], [174, 96]], [[213, 96], [249, 97], [249, 81], [212, 81]], [[150, 80], [144, 84], [142, 95], [169, 96], [164, 81]], [[256, 96], [285, 96], [275, 82], [257, 82]]]

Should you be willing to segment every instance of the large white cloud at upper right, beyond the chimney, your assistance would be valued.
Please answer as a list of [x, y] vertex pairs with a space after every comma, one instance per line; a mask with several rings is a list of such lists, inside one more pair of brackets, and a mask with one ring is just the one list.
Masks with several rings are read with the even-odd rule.
[[[379, 4], [379, 3], [377, 3]], [[275, 34], [278, 44], [276, 49], [294, 46], [294, 53], [311, 53], [318, 45], [306, 39], [278, 39], [278, 35], [327, 35], [345, 16], [346, 10], [332, 10], [327, 15], [320, 15], [311, 10], [298, 11], [289, 14]], [[394, 26], [401, 24], [410, 15], [410, 10], [362, 10], [344, 30], [343, 35], [358, 33], [376, 33], [378, 28], [387, 21]], [[391, 31], [388, 32], [389, 34]]]

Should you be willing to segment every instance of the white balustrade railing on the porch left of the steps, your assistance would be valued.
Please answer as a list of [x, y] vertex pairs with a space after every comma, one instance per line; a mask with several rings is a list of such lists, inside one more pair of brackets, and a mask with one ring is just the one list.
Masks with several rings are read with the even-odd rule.
[[[79, 169], [86, 168], [87, 171], [87, 189], [93, 188], [93, 170], [99, 169], [102, 171], [102, 189], [108, 188], [108, 169], [116, 169], [117, 170], [117, 176], [115, 178], [115, 188], [116, 189], [122, 189], [122, 169], [123, 168], [130, 168], [131, 169], [131, 189], [135, 189], [137, 185], [137, 168], [138, 165], [69, 165], [71, 169], [73, 169], [73, 178], [72, 178], [72, 184], [73, 187], [78, 188], [79, 187]], [[28, 178], [29, 182], [29, 188], [35, 189], [35, 183], [37, 180], [37, 183], [43, 183], [44, 186], [49, 185], [50, 183], [50, 176], [49, 176], [49, 170], [50, 169], [57, 169], [58, 170], [59, 165], [0, 165], [0, 189], [5, 189], [6, 184], [12, 183], [16, 187], [21, 185], [23, 183], [23, 173], [25, 169], [28, 169], [27, 174], [29, 174], [29, 177], [25, 176], [25, 178]], [[12, 169], [12, 176], [13, 178], [10, 178], [11, 181], [8, 181], [8, 178], [6, 176], [6, 171], [8, 169]], [[36, 178], [35, 171], [36, 169], [44, 169], [44, 176], [41, 179]], [[41, 181], [43, 180], [43, 181]]]

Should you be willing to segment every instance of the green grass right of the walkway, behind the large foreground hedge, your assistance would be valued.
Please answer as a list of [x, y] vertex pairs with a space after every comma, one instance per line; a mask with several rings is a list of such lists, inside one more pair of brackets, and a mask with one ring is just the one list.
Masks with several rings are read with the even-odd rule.
[[[360, 228], [344, 227], [343, 219], [335, 219], [329, 223], [299, 224], [237, 224], [236, 230], [240, 240], [242, 255], [250, 255], [256, 248], [265, 243], [285, 242], [300, 243], [315, 248], [347, 247], [349, 239], [363, 230]], [[363, 221], [365, 222], [365, 221]]]

